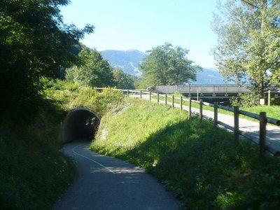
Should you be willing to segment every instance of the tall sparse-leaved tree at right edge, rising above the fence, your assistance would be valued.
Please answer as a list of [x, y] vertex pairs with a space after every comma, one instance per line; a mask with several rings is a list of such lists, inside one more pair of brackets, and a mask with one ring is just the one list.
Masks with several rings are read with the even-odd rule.
[[280, 1], [228, 0], [220, 10], [214, 18], [218, 45], [212, 50], [218, 70], [263, 96], [280, 79]]

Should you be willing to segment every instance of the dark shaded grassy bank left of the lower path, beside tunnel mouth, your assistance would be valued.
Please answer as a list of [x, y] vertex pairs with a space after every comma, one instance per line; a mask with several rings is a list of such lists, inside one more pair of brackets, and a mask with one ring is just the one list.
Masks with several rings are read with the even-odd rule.
[[75, 175], [59, 151], [64, 111], [49, 102], [32, 125], [0, 127], [0, 209], [50, 209]]

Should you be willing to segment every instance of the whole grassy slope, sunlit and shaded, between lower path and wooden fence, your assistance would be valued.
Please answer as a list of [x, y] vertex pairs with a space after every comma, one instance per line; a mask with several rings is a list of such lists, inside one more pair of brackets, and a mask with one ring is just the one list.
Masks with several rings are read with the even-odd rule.
[[127, 99], [123, 111], [102, 118], [92, 150], [146, 169], [183, 200], [188, 209], [277, 209], [280, 162], [249, 141], [212, 123], [188, 119], [178, 109]]

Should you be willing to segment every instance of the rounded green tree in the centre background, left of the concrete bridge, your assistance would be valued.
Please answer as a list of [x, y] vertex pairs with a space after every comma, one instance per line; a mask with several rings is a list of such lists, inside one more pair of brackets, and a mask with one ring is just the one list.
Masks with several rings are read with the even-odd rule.
[[201, 67], [187, 58], [188, 50], [165, 43], [149, 52], [140, 65], [147, 85], [182, 85], [196, 80], [196, 71]]

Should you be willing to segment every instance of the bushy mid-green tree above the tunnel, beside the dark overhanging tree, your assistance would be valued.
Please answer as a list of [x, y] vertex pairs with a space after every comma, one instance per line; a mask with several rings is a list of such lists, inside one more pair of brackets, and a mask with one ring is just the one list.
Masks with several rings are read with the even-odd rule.
[[91, 87], [114, 86], [113, 68], [109, 62], [103, 59], [100, 52], [84, 47], [79, 57], [80, 66], [72, 66], [66, 69], [66, 80], [73, 80], [80, 85]]

